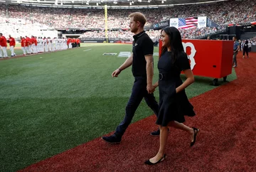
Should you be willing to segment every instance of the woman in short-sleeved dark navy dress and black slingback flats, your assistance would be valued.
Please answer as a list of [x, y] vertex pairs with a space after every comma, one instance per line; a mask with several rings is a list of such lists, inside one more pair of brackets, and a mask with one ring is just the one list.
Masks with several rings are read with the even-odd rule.
[[[198, 129], [190, 128], [183, 124], [184, 115], [195, 116], [193, 106], [188, 102], [185, 88], [194, 82], [193, 72], [190, 68], [188, 56], [183, 50], [181, 33], [175, 27], [167, 27], [161, 31], [162, 52], [159, 59], [159, 81], [154, 88], [159, 86], [159, 116], [156, 124], [160, 129], [160, 148], [153, 158], [145, 161], [148, 165], [154, 165], [164, 161], [166, 154], [164, 149], [168, 137], [168, 127], [182, 129], [191, 136], [191, 146], [196, 142]], [[185, 82], [181, 80], [181, 70], [186, 75]], [[149, 90], [148, 90], [149, 91]]]

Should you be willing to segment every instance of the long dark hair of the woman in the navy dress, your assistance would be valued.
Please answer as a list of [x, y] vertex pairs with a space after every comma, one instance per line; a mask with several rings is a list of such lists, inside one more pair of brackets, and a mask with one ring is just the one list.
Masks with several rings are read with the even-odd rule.
[[169, 45], [161, 48], [161, 55], [163, 55], [167, 51], [167, 46], [171, 47], [171, 55], [173, 55], [174, 57], [172, 58], [172, 63], [174, 64], [176, 59], [178, 58], [178, 55], [184, 52], [181, 41], [181, 33], [175, 27], [166, 27], [161, 31], [161, 33], [163, 31], [169, 36]]

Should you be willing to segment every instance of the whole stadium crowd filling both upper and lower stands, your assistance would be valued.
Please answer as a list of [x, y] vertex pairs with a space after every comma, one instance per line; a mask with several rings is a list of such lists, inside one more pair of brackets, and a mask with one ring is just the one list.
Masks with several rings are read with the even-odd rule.
[[[212, 33], [225, 31], [228, 23], [245, 23], [256, 21], [256, 0], [223, 1], [211, 4], [193, 4], [161, 9], [108, 9], [108, 38], [132, 40], [129, 32], [129, 16], [134, 11], [142, 12], [149, 25], [169, 18], [186, 18], [191, 16], [208, 16], [218, 23], [214, 28], [179, 29], [181, 36], [186, 38], [200, 38]], [[82, 28], [100, 31], [87, 31], [80, 38], [105, 37], [104, 9], [75, 9], [50, 8], [38, 6], [23, 6], [0, 4], [1, 33], [11, 34], [14, 38], [20, 36], [38, 36], [39, 31], [58, 28]], [[33, 28], [33, 29], [31, 29]], [[147, 31], [152, 40], [159, 39], [160, 31]], [[48, 36], [46, 36], [48, 37]], [[53, 36], [50, 36], [53, 38]], [[255, 38], [251, 40], [255, 44]]]

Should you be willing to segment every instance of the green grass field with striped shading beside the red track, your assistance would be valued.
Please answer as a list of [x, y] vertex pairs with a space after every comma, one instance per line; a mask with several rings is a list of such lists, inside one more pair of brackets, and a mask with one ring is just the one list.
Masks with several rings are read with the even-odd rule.
[[[82, 44], [73, 50], [0, 60], [0, 171], [25, 168], [114, 131], [124, 117], [134, 78], [131, 68], [117, 78], [111, 74], [126, 60], [117, 58], [119, 52], [131, 50], [132, 45]], [[155, 56], [154, 82], [157, 61]], [[233, 70], [228, 80], [235, 78]], [[212, 80], [196, 77], [186, 89], [188, 97], [214, 89]], [[157, 90], [155, 95], [158, 100]], [[133, 122], [151, 114], [143, 101]]]

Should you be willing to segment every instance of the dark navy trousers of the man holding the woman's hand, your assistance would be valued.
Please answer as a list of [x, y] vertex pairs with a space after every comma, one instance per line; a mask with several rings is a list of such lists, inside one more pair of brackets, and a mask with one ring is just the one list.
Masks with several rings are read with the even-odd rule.
[[135, 77], [134, 85], [132, 87], [132, 95], [125, 108], [125, 117], [114, 133], [116, 136], [122, 137], [125, 130], [132, 122], [132, 117], [134, 117], [134, 113], [140, 102], [142, 102], [143, 97], [146, 104], [154, 111], [154, 114], [156, 114], [157, 117], [159, 114], [159, 104], [156, 102], [154, 94], [149, 94], [146, 90], [146, 77]]

